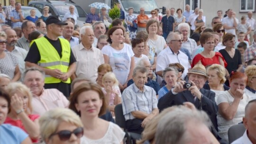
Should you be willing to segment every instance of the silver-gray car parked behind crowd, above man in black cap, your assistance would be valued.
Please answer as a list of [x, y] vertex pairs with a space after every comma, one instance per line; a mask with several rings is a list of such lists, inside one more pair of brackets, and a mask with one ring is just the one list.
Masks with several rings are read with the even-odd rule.
[[56, 0], [47, 0], [47, 1], [39, 1], [39, 0], [30, 0], [28, 2], [28, 6], [37, 8], [39, 11], [43, 13], [43, 8], [45, 6], [49, 7], [49, 13], [52, 16], [58, 16], [59, 18], [63, 18], [65, 13], [69, 12], [69, 7], [71, 5], [75, 6], [74, 12], [79, 16], [77, 18], [77, 25], [80, 27], [85, 23], [85, 19], [87, 17], [86, 12], [75, 3], [69, 1], [56, 1]]

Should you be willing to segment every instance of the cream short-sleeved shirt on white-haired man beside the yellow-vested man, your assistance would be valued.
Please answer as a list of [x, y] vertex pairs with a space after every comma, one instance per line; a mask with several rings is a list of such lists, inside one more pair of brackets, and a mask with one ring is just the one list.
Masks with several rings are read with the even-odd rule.
[[82, 43], [74, 46], [71, 50], [76, 59], [76, 76], [96, 81], [98, 67], [104, 63], [101, 50], [93, 46], [88, 50], [84, 48]]

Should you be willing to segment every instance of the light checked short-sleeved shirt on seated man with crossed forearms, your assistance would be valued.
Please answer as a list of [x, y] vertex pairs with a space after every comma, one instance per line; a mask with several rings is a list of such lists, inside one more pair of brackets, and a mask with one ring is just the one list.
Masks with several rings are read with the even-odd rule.
[[142, 111], [150, 114], [154, 108], [157, 108], [158, 101], [155, 90], [145, 85], [143, 90], [139, 90], [133, 83], [123, 91], [121, 98], [125, 120], [135, 118], [131, 114], [133, 111]]

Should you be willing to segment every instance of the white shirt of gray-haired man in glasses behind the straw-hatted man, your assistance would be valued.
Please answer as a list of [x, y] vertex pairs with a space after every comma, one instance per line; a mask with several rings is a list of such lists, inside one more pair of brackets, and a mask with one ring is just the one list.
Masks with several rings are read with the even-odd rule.
[[[170, 63], [180, 63], [184, 67], [185, 70], [182, 75], [183, 79], [187, 75], [188, 69], [191, 68], [188, 56], [186, 54], [181, 51], [179, 51], [178, 54], [174, 54], [171, 48], [168, 46], [159, 55], [157, 55], [156, 72], [164, 71]], [[161, 83], [163, 78], [160, 76], [157, 78], [157, 82]]]

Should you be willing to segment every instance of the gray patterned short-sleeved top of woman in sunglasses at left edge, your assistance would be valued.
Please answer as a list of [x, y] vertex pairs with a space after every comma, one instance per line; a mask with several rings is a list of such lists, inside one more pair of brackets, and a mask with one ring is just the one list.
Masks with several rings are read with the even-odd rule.
[[0, 59], [0, 73], [8, 75], [11, 79], [14, 77], [15, 68], [18, 65], [16, 56], [6, 52], [5, 57]]

